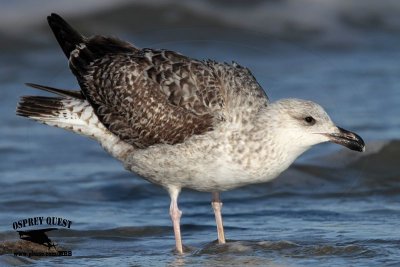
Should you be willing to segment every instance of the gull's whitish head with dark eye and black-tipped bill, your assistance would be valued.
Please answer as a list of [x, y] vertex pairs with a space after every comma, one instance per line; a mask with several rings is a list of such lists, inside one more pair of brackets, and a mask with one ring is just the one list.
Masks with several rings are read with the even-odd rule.
[[363, 152], [364, 141], [357, 134], [336, 126], [318, 104], [301, 99], [282, 99], [269, 107], [276, 134], [294, 149], [307, 148], [333, 142], [351, 150]]

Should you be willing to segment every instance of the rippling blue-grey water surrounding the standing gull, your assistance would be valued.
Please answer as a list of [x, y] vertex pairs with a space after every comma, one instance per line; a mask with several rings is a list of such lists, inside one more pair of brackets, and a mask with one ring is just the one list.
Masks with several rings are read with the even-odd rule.
[[[398, 266], [400, 2], [395, 0], [0, 1], [0, 241], [14, 221], [71, 220], [50, 234], [73, 257], [0, 265]], [[278, 179], [222, 194], [227, 245], [210, 195], [184, 191], [184, 256], [173, 254], [169, 198], [97, 143], [17, 117], [34, 82], [78, 88], [46, 16], [139, 47], [249, 67], [272, 100], [325, 107], [361, 135], [363, 154], [323, 144]]]

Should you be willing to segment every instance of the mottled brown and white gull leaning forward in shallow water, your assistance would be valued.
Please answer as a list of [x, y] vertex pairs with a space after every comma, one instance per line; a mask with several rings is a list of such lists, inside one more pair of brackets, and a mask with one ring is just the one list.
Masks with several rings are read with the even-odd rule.
[[337, 127], [320, 105], [271, 102], [237, 63], [85, 37], [57, 14], [47, 19], [80, 90], [28, 84], [58, 96], [23, 96], [17, 115], [92, 138], [127, 170], [165, 188], [178, 253], [183, 188], [212, 193], [223, 244], [220, 192], [270, 181], [319, 143], [365, 149], [360, 136]]

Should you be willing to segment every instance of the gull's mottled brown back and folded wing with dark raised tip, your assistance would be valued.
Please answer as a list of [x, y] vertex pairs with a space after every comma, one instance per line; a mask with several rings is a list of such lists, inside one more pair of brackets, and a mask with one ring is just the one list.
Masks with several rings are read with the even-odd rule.
[[114, 38], [77, 36], [60, 19], [49, 17], [49, 23], [62, 47], [63, 39], [73, 35], [74, 49], [68, 40], [63, 50], [70, 54], [83, 95], [105, 127], [137, 148], [181, 143], [210, 131], [225, 120], [232, 95], [243, 103], [250, 99], [256, 109], [268, 102], [251, 73], [240, 66], [193, 60], [168, 50], [141, 50]]

